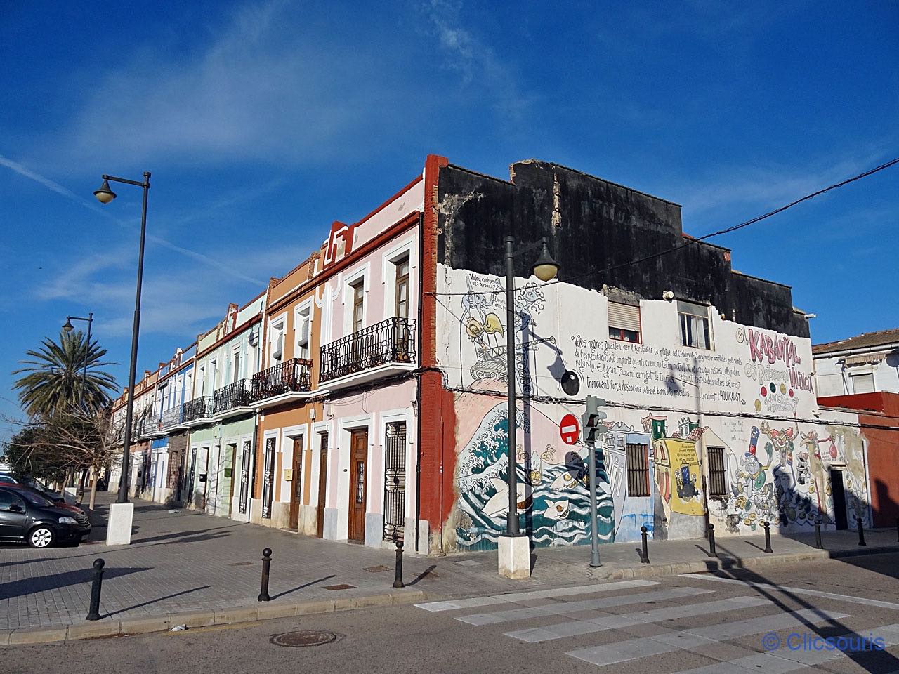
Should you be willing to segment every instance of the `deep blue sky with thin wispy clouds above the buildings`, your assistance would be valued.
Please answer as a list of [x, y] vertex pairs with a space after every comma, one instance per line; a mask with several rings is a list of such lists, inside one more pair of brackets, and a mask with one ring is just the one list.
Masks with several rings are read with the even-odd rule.
[[[138, 376], [411, 180], [536, 157], [683, 205], [703, 235], [899, 156], [895, 3], [4, 3], [0, 414], [67, 314]], [[899, 325], [899, 167], [715, 239], [813, 340]], [[115, 188], [114, 188], [115, 189]], [[0, 437], [10, 432], [4, 421]]]

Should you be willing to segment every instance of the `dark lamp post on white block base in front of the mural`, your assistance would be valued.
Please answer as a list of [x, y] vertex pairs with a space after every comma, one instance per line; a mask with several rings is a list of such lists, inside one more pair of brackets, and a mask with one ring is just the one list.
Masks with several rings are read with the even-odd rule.
[[553, 260], [547, 248], [546, 238], [515, 250], [515, 238], [505, 238], [506, 261], [506, 390], [509, 408], [509, 513], [506, 517], [506, 530], [499, 541], [499, 573], [508, 578], [528, 578], [530, 576], [530, 545], [528, 537], [519, 531], [518, 518], [518, 446], [516, 439], [515, 417], [515, 333], [518, 317], [515, 312], [515, 257], [530, 253], [541, 247], [537, 262], [531, 266], [531, 273], [541, 281], [556, 278], [558, 263]]

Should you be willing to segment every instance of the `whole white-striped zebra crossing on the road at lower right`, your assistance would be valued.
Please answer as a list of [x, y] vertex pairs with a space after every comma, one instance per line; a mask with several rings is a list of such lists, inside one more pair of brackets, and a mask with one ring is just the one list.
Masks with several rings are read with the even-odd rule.
[[[495, 626], [503, 630], [503, 636], [519, 642], [559, 643], [566, 656], [590, 663], [597, 668], [653, 656], [667, 657], [668, 654], [683, 651], [702, 655], [704, 652], [713, 652], [722, 644], [728, 645], [729, 652], [736, 653], [736, 657], [696, 669], [682, 670], [676, 674], [747, 674], [749, 671], [780, 674], [814, 670], [818, 665], [847, 658], [843, 652], [833, 649], [781, 648], [779, 633], [826, 634], [833, 638], [842, 636], [847, 640], [876, 633], [877, 637], [883, 640], [885, 648], [899, 645], [899, 621], [866, 628], [865, 634], [855, 634], [851, 630], [834, 634], [834, 630], [841, 625], [840, 621], [849, 618], [850, 613], [829, 608], [807, 607], [809, 606], [807, 603], [806, 607], [788, 610], [774, 599], [771, 590], [778, 590], [777, 586], [744, 583], [715, 576], [692, 578], [700, 581], [700, 587], [667, 586], [661, 581], [648, 580], [618, 581], [554, 590], [531, 590], [470, 599], [432, 601], [416, 606], [432, 613], [449, 613], [449, 616], [458, 623], [472, 627]], [[701, 581], [726, 582], [731, 590], [746, 591], [745, 594], [722, 599], [715, 596], [717, 590], [721, 589], [720, 586], [716, 587], [713, 582], [703, 587]], [[735, 587], [740, 584], [743, 587]], [[876, 599], [806, 589], [781, 590], [797, 590], [797, 593], [804, 592], [806, 595], [816, 595], [822, 599], [867, 604], [871, 607], [899, 611], [899, 604]], [[646, 604], [665, 605], [641, 606]], [[630, 607], [633, 607], [633, 610]], [[613, 608], [626, 610], [624, 612], [607, 610]], [[863, 609], [860, 613], [864, 616]], [[703, 620], [704, 617], [713, 617], [713, 622], [702, 626], [684, 626], [681, 629], [661, 625], [668, 620], [689, 621], [690, 618], [698, 619], [700, 623], [708, 622]], [[540, 624], [514, 625], [525, 621], [539, 621]], [[608, 634], [612, 630], [622, 632]], [[603, 633], [606, 633], [604, 638]], [[592, 639], [592, 635], [596, 635], [600, 643], [584, 645], [584, 638]], [[764, 639], [758, 643], [758, 648], [739, 645], [741, 639], [762, 635], [777, 638], [778, 647], [770, 651], [762, 650], [762, 646], [765, 645]], [[610, 637], [619, 637], [619, 640], [610, 642]], [[565, 640], [569, 639], [581, 641], [566, 647]], [[718, 660], [710, 654], [707, 657]], [[669, 658], [667, 661], [676, 663], [678, 659]], [[899, 674], [899, 670], [895, 674]]]

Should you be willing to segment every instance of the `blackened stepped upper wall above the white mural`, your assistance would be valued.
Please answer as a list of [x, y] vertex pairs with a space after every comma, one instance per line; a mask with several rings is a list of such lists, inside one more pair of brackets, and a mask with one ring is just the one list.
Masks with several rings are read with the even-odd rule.
[[[725, 248], [683, 246], [678, 204], [556, 164], [519, 162], [511, 173], [505, 182], [451, 164], [441, 168], [438, 262], [502, 277], [505, 236], [511, 232], [520, 246], [547, 236], [559, 277], [568, 282], [647, 299], [672, 290], [716, 306], [728, 320], [808, 336], [790, 288], [734, 272]], [[538, 254], [521, 255], [516, 273], [529, 276]]]

